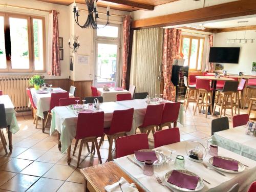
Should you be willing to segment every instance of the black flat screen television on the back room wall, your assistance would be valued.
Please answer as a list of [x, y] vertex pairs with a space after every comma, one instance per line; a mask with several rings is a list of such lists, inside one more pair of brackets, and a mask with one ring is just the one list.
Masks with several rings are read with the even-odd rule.
[[211, 47], [209, 62], [238, 63], [240, 47]]

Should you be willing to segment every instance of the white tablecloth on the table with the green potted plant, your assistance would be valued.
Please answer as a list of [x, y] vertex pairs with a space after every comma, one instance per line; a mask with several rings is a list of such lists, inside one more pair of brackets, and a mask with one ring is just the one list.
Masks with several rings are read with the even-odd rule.
[[[62, 90], [61, 88], [53, 88], [53, 90]], [[65, 91], [65, 90], [62, 90]], [[34, 88], [31, 89], [31, 95], [33, 101], [37, 108], [36, 115], [38, 117], [44, 118], [44, 112], [50, 110], [50, 100], [51, 100], [51, 93], [46, 94], [38, 94]], [[69, 97], [74, 97], [74, 95], [69, 94]]]

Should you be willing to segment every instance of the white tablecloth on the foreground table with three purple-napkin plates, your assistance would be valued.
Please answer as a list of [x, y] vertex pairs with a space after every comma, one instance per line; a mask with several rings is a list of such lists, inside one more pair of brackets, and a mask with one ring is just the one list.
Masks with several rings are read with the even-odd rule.
[[[203, 140], [198, 140], [201, 143], [204, 143]], [[225, 150], [224, 148], [219, 147], [219, 155], [226, 156], [240, 161], [243, 164], [249, 166], [249, 168], [245, 168], [244, 172], [237, 174], [224, 173], [226, 177], [219, 175], [213, 170], [209, 170], [203, 166], [202, 163], [196, 163], [194, 161], [190, 161], [185, 152], [186, 143], [188, 141], [182, 141], [170, 145], [165, 145], [158, 147], [163, 151], [164, 155], [169, 155], [168, 149], [175, 149], [176, 153], [174, 154], [174, 159], [176, 155], [183, 155], [185, 157], [185, 169], [189, 170], [210, 182], [207, 184], [204, 182], [205, 186], [200, 191], [211, 191], [211, 192], [224, 192], [228, 191], [234, 184], [239, 183], [239, 191], [247, 191], [248, 186], [256, 179], [256, 161], [240, 156], [236, 153]], [[132, 160], [136, 161], [134, 155], [129, 155]], [[208, 162], [208, 159], [211, 156], [207, 155], [204, 159], [204, 162]], [[154, 169], [153, 176], [145, 176], [142, 173], [142, 169], [138, 168], [135, 164], [131, 163], [127, 160], [126, 157], [115, 159], [114, 162], [120, 166], [125, 173], [127, 173], [133, 180], [135, 180], [138, 184], [141, 185], [146, 191], [169, 191], [164, 186], [158, 184], [156, 180], [156, 176], [160, 177], [160, 179], [164, 181], [164, 175], [169, 171], [174, 169], [174, 165], [169, 165], [164, 163], [160, 167], [156, 167]], [[138, 162], [140, 163], [140, 162]], [[140, 163], [142, 165], [142, 163]], [[178, 191], [173, 189], [174, 191]]]

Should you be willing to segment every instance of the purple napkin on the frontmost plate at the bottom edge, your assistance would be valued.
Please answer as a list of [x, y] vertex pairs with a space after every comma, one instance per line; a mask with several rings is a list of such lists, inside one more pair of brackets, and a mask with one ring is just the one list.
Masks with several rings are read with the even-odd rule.
[[172, 175], [170, 175], [167, 181], [181, 188], [195, 190], [198, 180], [199, 177], [197, 176], [190, 176], [173, 170]]

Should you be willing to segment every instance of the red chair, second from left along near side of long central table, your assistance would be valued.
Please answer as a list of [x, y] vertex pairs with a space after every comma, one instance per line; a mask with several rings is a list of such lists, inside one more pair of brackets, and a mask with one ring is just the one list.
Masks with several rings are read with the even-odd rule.
[[[114, 111], [110, 128], [104, 129], [104, 134], [108, 137], [109, 140], [108, 161], [112, 160], [111, 153], [113, 140], [116, 140], [118, 137], [126, 136], [126, 132], [131, 131], [133, 124], [133, 112], [133, 108], [128, 110]], [[102, 135], [102, 137], [100, 138], [99, 146], [101, 146], [103, 140], [104, 135]]]

